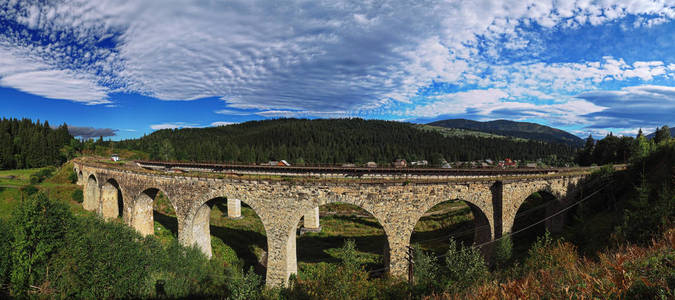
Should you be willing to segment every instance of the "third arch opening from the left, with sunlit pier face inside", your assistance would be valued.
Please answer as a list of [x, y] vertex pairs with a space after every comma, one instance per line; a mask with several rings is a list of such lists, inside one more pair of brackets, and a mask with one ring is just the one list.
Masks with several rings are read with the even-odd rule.
[[155, 221], [169, 230], [172, 236], [178, 236], [178, 220], [173, 203], [161, 188], [151, 187], [136, 195], [131, 224], [141, 235], [147, 236], [155, 234]]

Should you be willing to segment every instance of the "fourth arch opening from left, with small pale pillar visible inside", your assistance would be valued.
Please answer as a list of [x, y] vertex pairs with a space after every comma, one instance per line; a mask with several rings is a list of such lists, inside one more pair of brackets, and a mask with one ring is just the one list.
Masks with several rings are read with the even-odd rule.
[[253, 267], [261, 275], [267, 267], [267, 234], [260, 216], [244, 201], [216, 197], [204, 203], [192, 220], [192, 237], [209, 257], [228, 264]]

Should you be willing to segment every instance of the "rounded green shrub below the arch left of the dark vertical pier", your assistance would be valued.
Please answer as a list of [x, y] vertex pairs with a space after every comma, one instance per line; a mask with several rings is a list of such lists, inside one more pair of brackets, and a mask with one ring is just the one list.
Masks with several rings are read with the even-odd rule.
[[487, 280], [488, 268], [477, 249], [458, 244], [453, 238], [449, 243], [443, 280], [446, 290], [459, 291]]

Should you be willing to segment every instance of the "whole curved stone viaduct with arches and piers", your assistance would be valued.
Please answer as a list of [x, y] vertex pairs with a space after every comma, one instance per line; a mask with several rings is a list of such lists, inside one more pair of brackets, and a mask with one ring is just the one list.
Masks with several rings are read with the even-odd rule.
[[[286, 284], [289, 276], [296, 273], [298, 224], [304, 217], [305, 227], [317, 228], [321, 205], [349, 203], [372, 214], [387, 237], [388, 244], [383, 250], [388, 253], [385, 261], [389, 274], [405, 276], [406, 247], [415, 224], [434, 205], [448, 200], [465, 201], [476, 220], [474, 241], [480, 244], [510, 232], [518, 208], [534, 192], [545, 191], [555, 196], [558, 207], [567, 205], [574, 199], [580, 179], [589, 173], [577, 170], [534, 175], [436, 176], [434, 180], [288, 180], [273, 176], [238, 177], [231, 173], [180, 174], [90, 159], [78, 159], [74, 166], [78, 183], [84, 186], [86, 210], [96, 211], [106, 219], [121, 215], [126, 224], [141, 234], [153, 234], [153, 202], [161, 191], [176, 212], [180, 243], [197, 245], [208, 257], [211, 257], [211, 200], [226, 198], [230, 217], [238, 216], [240, 203], [244, 201], [265, 227], [268, 286]], [[547, 225], [555, 230], [561, 226], [561, 220], [553, 218]]]

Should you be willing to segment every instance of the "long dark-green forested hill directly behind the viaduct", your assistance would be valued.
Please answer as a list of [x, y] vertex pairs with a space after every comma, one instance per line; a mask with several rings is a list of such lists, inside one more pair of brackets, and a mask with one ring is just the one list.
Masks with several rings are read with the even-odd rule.
[[[203, 162], [340, 164], [398, 158], [438, 164], [477, 159], [551, 158], [570, 161], [575, 148], [536, 141], [475, 136], [444, 137], [409, 123], [362, 119], [276, 119], [209, 127], [166, 129], [118, 143], [152, 159]], [[554, 158], [554, 160], [556, 160]]]

